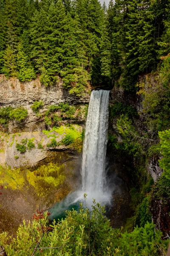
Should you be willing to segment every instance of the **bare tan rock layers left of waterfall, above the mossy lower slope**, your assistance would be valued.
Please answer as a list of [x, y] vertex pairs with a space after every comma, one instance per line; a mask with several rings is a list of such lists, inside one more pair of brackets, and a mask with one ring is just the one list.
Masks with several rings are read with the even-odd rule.
[[[82, 127], [85, 124], [86, 106], [90, 100], [89, 93], [84, 93], [82, 97], [77, 97], [69, 94], [62, 86], [63, 82], [60, 80], [54, 86], [46, 88], [40, 83], [40, 79], [30, 82], [21, 83], [18, 79], [6, 79], [5, 76], [0, 77], [0, 105], [1, 107], [24, 107], [28, 111], [28, 116], [22, 122], [10, 120], [8, 128], [1, 125], [1, 131], [9, 132], [10, 134], [1, 134], [0, 140], [0, 164], [11, 166], [11, 168], [18, 168], [20, 166], [35, 166], [37, 163], [50, 157], [52, 151], [68, 151], [71, 154], [76, 153], [74, 145], [72, 147], [65, 145], [54, 146], [53, 148], [47, 145], [51, 143], [52, 138], [56, 138], [57, 143], [60, 143], [65, 135], [58, 134], [56, 131], [51, 131], [48, 134], [42, 133], [42, 130], [50, 130], [53, 124], [47, 125], [44, 121], [45, 112], [51, 105], [58, 105], [59, 103], [68, 103], [75, 107], [75, 113], [71, 118], [65, 116], [57, 125], [65, 124], [79, 124], [76, 127], [79, 133], [82, 132]], [[43, 108], [39, 113], [35, 113], [31, 106], [35, 101], [42, 101]], [[24, 154], [17, 151], [16, 144], [21, 143], [22, 140], [34, 140], [35, 147], [31, 150], [26, 150]], [[43, 148], [38, 148], [41, 143]]]

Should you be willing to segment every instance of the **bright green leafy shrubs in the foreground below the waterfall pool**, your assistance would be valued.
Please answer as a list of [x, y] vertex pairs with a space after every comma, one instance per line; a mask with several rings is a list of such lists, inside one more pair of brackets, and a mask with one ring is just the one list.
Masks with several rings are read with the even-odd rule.
[[[87, 195], [85, 195], [86, 198]], [[20, 225], [17, 236], [0, 234], [0, 245], [8, 256], [159, 256], [165, 255], [168, 240], [161, 240], [161, 232], [153, 223], [136, 227], [131, 233], [113, 229], [104, 216], [105, 209], [93, 202], [92, 211], [67, 211], [66, 218], [48, 226], [48, 212], [38, 211], [33, 223]], [[106, 235], [107, 234], [107, 235]]]

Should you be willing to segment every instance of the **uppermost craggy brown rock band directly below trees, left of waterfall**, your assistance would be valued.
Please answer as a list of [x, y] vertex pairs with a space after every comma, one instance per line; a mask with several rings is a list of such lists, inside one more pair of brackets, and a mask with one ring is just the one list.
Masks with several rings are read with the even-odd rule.
[[[81, 97], [70, 94], [64, 89], [63, 81], [60, 79], [58, 83], [51, 87], [45, 87], [40, 83], [39, 77], [32, 81], [20, 82], [16, 78], [6, 79], [0, 75], [0, 106], [17, 108], [23, 106], [28, 111], [28, 116], [23, 122], [10, 121], [8, 131], [42, 131], [45, 129], [45, 123], [40, 116], [32, 110], [31, 105], [35, 101], [42, 101], [44, 106], [40, 109], [43, 116], [48, 106], [58, 105], [61, 102], [68, 102], [69, 105], [88, 104], [90, 94], [83, 93]], [[85, 119], [79, 117], [78, 122], [84, 122]], [[2, 128], [1, 128], [2, 130]]]

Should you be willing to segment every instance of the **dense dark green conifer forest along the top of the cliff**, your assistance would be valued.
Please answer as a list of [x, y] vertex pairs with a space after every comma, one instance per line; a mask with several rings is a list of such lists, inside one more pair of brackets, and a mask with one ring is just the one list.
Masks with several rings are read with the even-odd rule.
[[[168, 0], [0, 0], [0, 72], [20, 81], [61, 77], [80, 95], [88, 83], [136, 90], [139, 75], [170, 52]], [[21, 58], [21, 59], [20, 59]]]

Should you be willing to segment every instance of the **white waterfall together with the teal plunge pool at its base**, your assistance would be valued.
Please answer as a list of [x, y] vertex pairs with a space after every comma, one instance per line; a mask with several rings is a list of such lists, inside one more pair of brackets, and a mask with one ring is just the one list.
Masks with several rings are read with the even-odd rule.
[[[79, 204], [91, 209], [93, 198], [102, 205], [109, 204], [113, 190], [107, 180], [106, 149], [108, 143], [108, 102], [109, 90], [93, 90], [85, 126], [85, 139], [82, 153], [82, 185], [49, 212], [50, 219], [65, 217], [65, 210], [78, 210]], [[86, 202], [84, 193], [87, 194]]]

